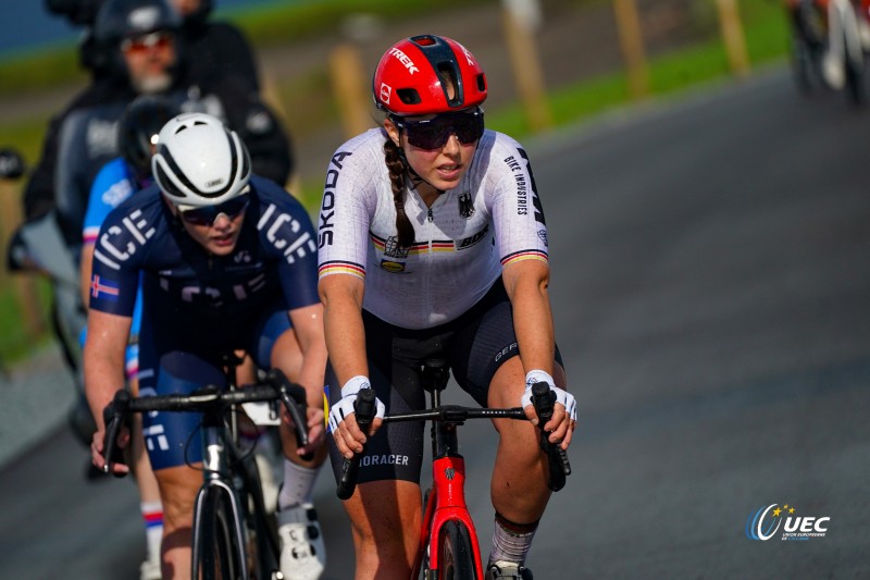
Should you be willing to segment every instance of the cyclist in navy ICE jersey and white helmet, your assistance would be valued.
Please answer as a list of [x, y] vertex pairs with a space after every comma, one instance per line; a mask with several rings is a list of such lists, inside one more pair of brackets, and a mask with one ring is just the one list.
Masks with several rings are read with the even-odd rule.
[[[258, 367], [281, 368], [308, 392], [311, 444], [295, 448], [282, 425], [286, 465], [278, 498], [285, 578], [314, 579], [325, 552], [310, 505], [325, 458], [323, 308], [316, 245], [304, 208], [279, 185], [251, 174], [247, 148], [214, 116], [182, 114], [158, 136], [156, 185], [105, 218], [94, 247], [85, 386], [97, 421], [94, 464], [102, 468], [102, 409], [124, 380], [124, 346], [141, 284], [139, 388], [187, 393], [224, 381], [222, 355], [243, 349]], [[190, 570], [192, 498], [201, 484], [192, 414], [144, 418], [163, 505], [162, 571]], [[313, 453], [312, 460], [301, 455]], [[192, 464], [195, 468], [190, 468]], [[124, 466], [115, 470], [125, 471]]]

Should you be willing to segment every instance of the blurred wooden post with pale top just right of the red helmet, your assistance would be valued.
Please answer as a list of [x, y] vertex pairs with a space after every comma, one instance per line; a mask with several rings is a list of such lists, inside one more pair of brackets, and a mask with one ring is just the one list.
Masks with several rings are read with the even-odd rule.
[[504, 11], [504, 21], [520, 99], [525, 107], [530, 128], [538, 133], [552, 126], [552, 116], [544, 92], [544, 74], [537, 46], [532, 38], [532, 26], [510, 9]]

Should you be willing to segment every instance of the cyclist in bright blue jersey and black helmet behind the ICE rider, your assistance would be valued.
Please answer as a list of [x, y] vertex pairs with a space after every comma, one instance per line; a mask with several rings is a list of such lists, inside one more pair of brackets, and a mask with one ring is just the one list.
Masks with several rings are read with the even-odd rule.
[[[82, 289], [84, 304], [90, 295], [91, 259], [94, 244], [105, 217], [134, 193], [151, 185], [151, 155], [157, 136], [166, 122], [181, 112], [178, 107], [163, 97], [142, 96], [127, 106], [119, 123], [117, 157], [100, 170], [90, 188], [90, 199], [85, 212], [82, 245]], [[133, 312], [129, 345], [126, 355], [126, 378], [130, 392], [138, 395], [139, 370], [138, 334], [141, 322], [141, 299], [137, 297]], [[83, 344], [85, 333], [83, 332]], [[160, 580], [160, 543], [163, 538], [163, 508], [160, 490], [154, 479], [148, 455], [145, 453], [141, 417], [133, 418], [130, 432], [130, 470], [139, 490], [139, 507], [146, 528], [146, 558], [139, 567], [140, 580]]]

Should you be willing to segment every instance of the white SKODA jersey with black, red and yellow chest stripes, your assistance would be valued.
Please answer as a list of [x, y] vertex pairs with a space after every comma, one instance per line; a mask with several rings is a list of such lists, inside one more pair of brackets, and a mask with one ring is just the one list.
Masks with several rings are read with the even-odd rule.
[[383, 128], [339, 147], [330, 162], [318, 226], [320, 277], [365, 281], [363, 308], [407, 329], [449, 322], [517, 260], [547, 260], [547, 229], [529, 158], [511, 137], [484, 132], [461, 183], [431, 208], [408, 182], [410, 248], [397, 244]]

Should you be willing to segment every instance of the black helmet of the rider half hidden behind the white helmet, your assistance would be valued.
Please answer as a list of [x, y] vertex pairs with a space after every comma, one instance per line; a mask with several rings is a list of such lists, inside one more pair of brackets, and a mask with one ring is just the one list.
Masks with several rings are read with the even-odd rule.
[[181, 113], [175, 102], [153, 95], [138, 97], [124, 110], [117, 128], [117, 145], [139, 181], [151, 174], [151, 147], [157, 145], [160, 129]]

